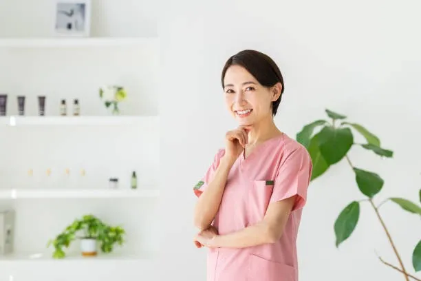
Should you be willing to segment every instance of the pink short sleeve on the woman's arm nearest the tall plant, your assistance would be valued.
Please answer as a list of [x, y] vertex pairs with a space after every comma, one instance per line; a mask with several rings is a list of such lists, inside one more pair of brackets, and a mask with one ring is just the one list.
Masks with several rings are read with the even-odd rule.
[[270, 202], [277, 202], [292, 196], [296, 201], [292, 211], [304, 207], [307, 189], [312, 175], [312, 158], [305, 147], [299, 147], [282, 161], [276, 178]]

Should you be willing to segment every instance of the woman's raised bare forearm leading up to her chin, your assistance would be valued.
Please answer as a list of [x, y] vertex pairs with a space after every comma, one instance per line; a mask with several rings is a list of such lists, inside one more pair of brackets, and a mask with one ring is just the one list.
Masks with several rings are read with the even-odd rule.
[[233, 167], [233, 161], [223, 156], [219, 162], [213, 179], [208, 187], [199, 196], [195, 206], [194, 224], [200, 230], [210, 226], [221, 204], [222, 194], [228, 178], [228, 173]]

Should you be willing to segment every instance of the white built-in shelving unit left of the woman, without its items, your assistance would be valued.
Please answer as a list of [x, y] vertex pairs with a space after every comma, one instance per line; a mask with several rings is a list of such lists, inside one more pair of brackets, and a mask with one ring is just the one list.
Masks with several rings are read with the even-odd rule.
[[[0, 116], [0, 209], [13, 209], [16, 225], [14, 254], [0, 257], [0, 281], [155, 280], [157, 4], [91, 0], [91, 37], [66, 38], [52, 32], [54, 1], [7, 2], [0, 11], [0, 94], [8, 95], [7, 116]], [[104, 85], [127, 90], [120, 114], [100, 99]], [[24, 116], [17, 96], [25, 96]], [[45, 116], [38, 96], [45, 96]], [[80, 116], [72, 115], [74, 99]], [[133, 171], [137, 189], [130, 188]], [[118, 189], [109, 178], [119, 179]], [[125, 244], [82, 258], [74, 242], [66, 258], [52, 259], [47, 241], [85, 214], [122, 225]]]

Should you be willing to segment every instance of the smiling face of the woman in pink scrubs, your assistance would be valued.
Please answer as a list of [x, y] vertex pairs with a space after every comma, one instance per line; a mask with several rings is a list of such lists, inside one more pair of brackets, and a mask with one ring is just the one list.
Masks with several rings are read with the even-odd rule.
[[239, 65], [228, 67], [224, 77], [226, 107], [239, 125], [255, 125], [272, 118], [272, 101], [279, 97], [277, 87], [263, 87], [250, 72]]

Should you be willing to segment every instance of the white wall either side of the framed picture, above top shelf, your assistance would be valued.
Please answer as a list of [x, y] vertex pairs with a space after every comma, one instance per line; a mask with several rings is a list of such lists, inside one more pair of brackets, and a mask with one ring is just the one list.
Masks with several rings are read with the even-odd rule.
[[[150, 37], [157, 35], [157, 2], [146, 0], [90, 1], [91, 37]], [[0, 37], [53, 36], [55, 3], [56, 0], [1, 0]]]

